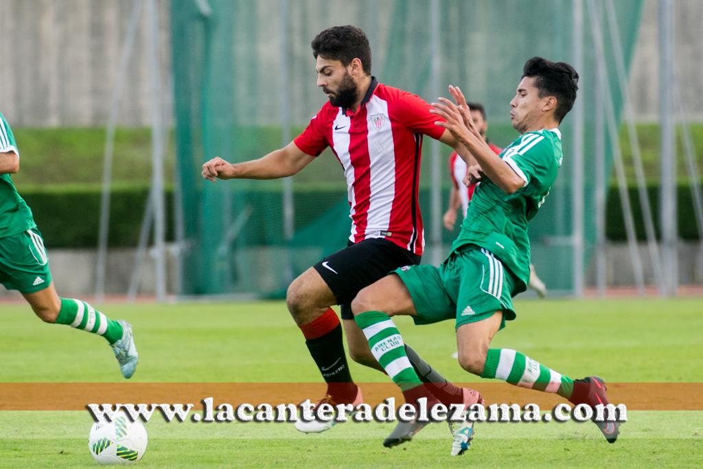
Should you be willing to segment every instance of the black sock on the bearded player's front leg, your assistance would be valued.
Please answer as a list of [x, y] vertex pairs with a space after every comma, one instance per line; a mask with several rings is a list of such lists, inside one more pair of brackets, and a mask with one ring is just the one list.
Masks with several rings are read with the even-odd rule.
[[342, 342], [342, 324], [316, 339], [305, 341], [310, 355], [327, 382], [327, 393], [335, 401], [344, 403], [356, 397], [356, 385], [349, 373], [347, 355]]

